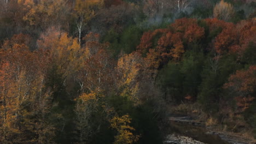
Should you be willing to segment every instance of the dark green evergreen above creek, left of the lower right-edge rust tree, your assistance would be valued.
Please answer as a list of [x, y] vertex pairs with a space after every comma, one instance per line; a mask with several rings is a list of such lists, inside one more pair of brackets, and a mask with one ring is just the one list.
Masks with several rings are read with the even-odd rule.
[[229, 75], [238, 68], [235, 57], [232, 55], [221, 58], [208, 55], [202, 70], [199, 102], [210, 113], [218, 112], [219, 100], [224, 97], [223, 85]]

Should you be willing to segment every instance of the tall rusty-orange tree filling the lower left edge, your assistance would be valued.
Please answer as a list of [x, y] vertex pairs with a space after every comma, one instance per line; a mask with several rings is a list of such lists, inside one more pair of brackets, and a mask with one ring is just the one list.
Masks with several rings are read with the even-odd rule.
[[50, 92], [44, 89], [45, 67], [40, 67], [43, 64], [38, 61], [38, 56], [42, 55], [31, 52], [23, 36], [15, 35], [4, 43], [1, 71], [4, 81], [1, 85], [1, 97], [4, 99], [1, 104], [4, 110], [3, 141], [52, 143], [53, 139], [46, 138], [54, 133], [50, 132], [53, 127], [45, 118], [49, 113]]

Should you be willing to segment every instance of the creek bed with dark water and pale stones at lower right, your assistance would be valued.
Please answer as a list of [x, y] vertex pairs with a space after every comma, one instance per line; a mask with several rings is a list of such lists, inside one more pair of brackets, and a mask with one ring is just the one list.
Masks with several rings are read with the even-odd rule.
[[204, 122], [198, 122], [189, 116], [170, 116], [171, 134], [166, 136], [168, 144], [254, 144], [252, 140], [231, 133], [212, 131]]

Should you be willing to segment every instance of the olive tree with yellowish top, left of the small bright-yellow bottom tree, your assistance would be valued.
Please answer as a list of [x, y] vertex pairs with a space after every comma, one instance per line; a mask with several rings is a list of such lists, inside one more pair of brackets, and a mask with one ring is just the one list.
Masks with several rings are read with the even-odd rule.
[[104, 118], [103, 99], [104, 95], [97, 92], [83, 93], [76, 99], [74, 111], [78, 143], [88, 143], [101, 130]]

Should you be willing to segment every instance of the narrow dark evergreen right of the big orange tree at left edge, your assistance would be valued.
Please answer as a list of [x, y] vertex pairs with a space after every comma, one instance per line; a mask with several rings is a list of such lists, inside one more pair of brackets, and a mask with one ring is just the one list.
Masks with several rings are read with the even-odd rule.
[[53, 91], [53, 106], [49, 123], [53, 124], [57, 143], [71, 143], [74, 141], [74, 102], [70, 99], [63, 85], [63, 75], [57, 73], [54, 65], [46, 75], [46, 86]]

